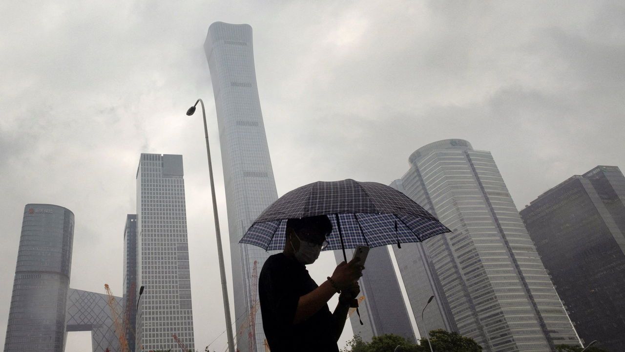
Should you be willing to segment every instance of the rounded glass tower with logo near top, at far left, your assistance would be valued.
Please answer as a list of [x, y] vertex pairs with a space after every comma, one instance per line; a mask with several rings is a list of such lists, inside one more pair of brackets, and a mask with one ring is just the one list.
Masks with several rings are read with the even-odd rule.
[[63, 352], [74, 213], [26, 204], [4, 352]]

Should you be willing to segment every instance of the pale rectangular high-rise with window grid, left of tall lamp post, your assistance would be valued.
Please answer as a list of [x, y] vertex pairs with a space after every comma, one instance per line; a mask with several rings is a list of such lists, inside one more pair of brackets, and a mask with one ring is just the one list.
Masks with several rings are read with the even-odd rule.
[[136, 350], [194, 349], [183, 156], [142, 153], [137, 170]]

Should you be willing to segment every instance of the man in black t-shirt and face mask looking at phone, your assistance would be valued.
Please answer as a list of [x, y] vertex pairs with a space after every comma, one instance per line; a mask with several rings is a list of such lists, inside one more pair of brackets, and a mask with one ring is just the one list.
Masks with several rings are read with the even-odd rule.
[[[284, 251], [270, 256], [259, 276], [262, 325], [272, 352], [339, 351], [347, 311], [364, 267], [341, 262], [320, 286], [306, 270], [327, 247], [332, 223], [326, 215], [289, 219]], [[339, 293], [331, 313], [327, 301]]]

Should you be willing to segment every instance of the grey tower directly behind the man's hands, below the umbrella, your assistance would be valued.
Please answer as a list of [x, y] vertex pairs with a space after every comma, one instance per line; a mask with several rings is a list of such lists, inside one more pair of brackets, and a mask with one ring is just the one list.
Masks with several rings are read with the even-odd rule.
[[[346, 250], [348, 259], [353, 252], [353, 249]], [[344, 260], [341, 251], [334, 251], [334, 257], [337, 264]], [[396, 334], [416, 342], [387, 247], [372, 248], [366, 266], [358, 280], [360, 296], [364, 297], [359, 302], [360, 316], [352, 313], [349, 317], [354, 335], [371, 342], [374, 336]]]

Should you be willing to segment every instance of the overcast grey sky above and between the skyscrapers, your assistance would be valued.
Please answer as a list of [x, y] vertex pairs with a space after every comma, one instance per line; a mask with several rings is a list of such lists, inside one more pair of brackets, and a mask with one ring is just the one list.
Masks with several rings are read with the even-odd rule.
[[[76, 215], [71, 287], [121, 296], [142, 152], [184, 156], [196, 348], [224, 330], [201, 115], [185, 115], [204, 99], [225, 230], [202, 49], [215, 21], [254, 30], [279, 195], [389, 184], [444, 138], [491, 151], [519, 209], [596, 165], [625, 167], [622, 1], [2, 1], [0, 336], [27, 203]], [[339, 346], [349, 338], [348, 326]], [[90, 346], [72, 333], [66, 351]]]

